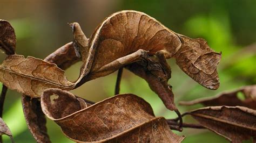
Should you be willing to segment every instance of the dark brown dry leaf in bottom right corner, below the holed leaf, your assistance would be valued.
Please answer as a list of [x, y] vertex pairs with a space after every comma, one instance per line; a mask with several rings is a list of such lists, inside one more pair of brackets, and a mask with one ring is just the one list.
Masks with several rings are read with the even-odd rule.
[[232, 142], [256, 137], [256, 111], [241, 106], [210, 106], [188, 112], [209, 130]]

